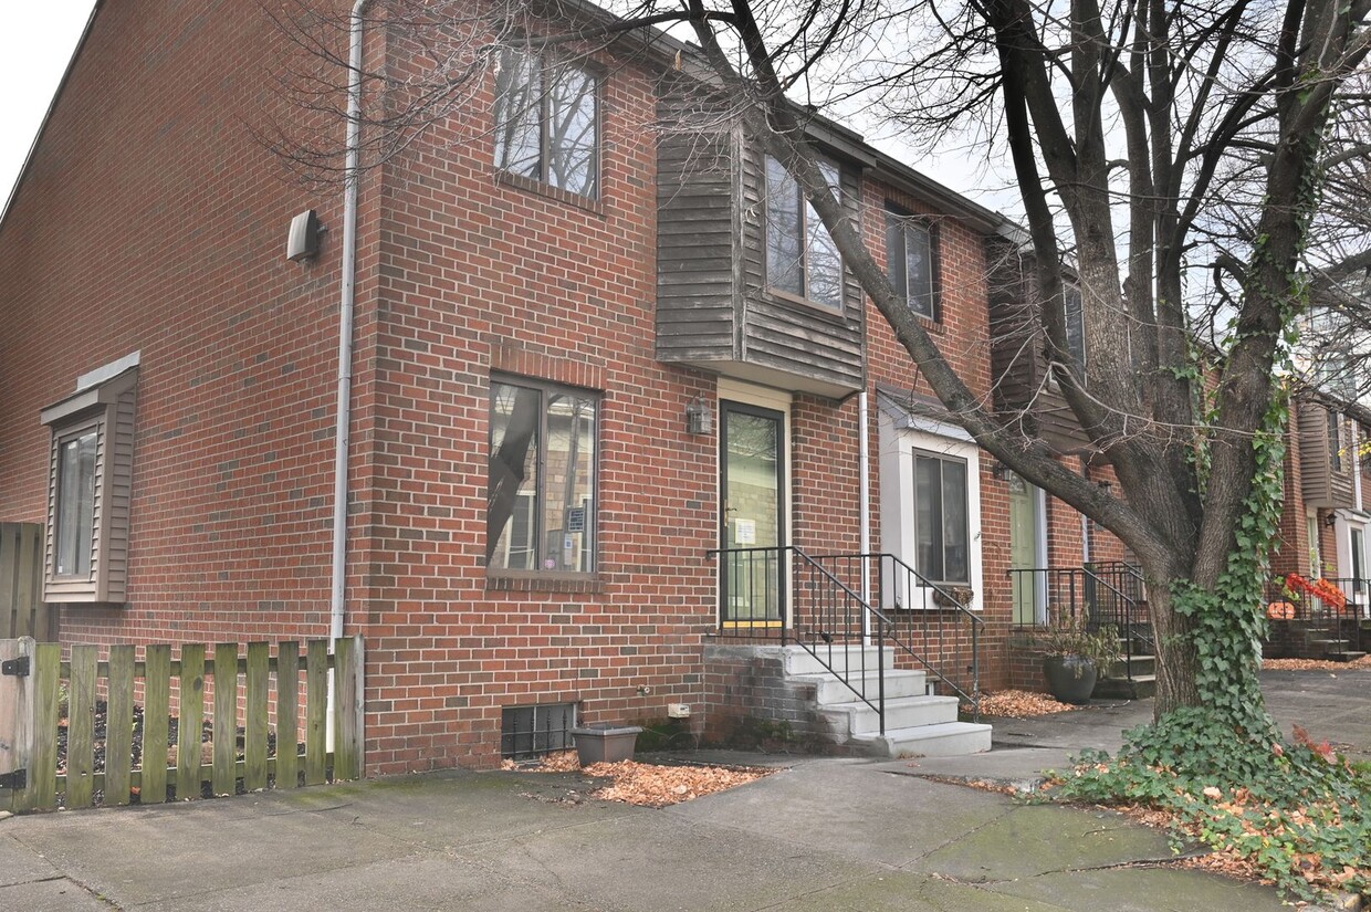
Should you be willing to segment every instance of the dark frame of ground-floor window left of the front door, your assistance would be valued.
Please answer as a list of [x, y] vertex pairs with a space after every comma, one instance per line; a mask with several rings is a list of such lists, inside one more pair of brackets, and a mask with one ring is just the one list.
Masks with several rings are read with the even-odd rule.
[[[492, 560], [495, 551], [499, 547], [499, 539], [505, 531], [502, 527], [499, 531], [494, 529], [491, 525], [491, 501], [492, 491], [491, 483], [494, 479], [492, 461], [495, 453], [492, 451], [495, 440], [495, 407], [496, 407], [496, 394], [500, 387], [511, 387], [514, 389], [524, 389], [529, 392], [536, 392], [539, 396], [539, 417], [536, 428], [536, 481], [532, 494], [532, 533], [529, 540], [532, 542], [533, 560], [532, 566], [528, 568], [509, 568], [509, 566], [492, 566]], [[539, 553], [540, 549], [546, 546], [548, 529], [544, 523], [547, 518], [547, 446], [548, 439], [548, 396], [550, 395], [573, 395], [580, 399], [587, 399], [592, 402], [594, 410], [591, 413], [592, 422], [592, 442], [591, 442], [591, 465], [588, 470], [590, 477], [590, 498], [585, 516], [581, 518], [581, 533], [587, 536], [588, 542], [584, 547], [590, 550], [588, 569], [565, 569], [553, 568], [544, 569], [540, 566]], [[487, 558], [485, 558], [485, 572], [488, 577], [496, 580], [524, 580], [533, 581], [576, 581], [576, 580], [594, 580], [596, 579], [600, 558], [600, 536], [599, 536], [599, 496], [600, 496], [600, 433], [602, 433], [602, 420], [603, 420], [603, 405], [605, 396], [596, 389], [587, 389], [583, 387], [574, 387], [570, 384], [555, 383], [548, 380], [540, 380], [533, 377], [524, 377], [518, 374], [503, 374], [492, 373], [489, 383], [489, 395], [487, 403], [487, 417], [489, 420], [488, 436], [487, 436], [487, 517], [485, 517], [485, 536], [487, 536]], [[515, 491], [514, 498], [525, 496], [521, 491]], [[510, 517], [506, 523], [514, 521], [515, 510], [510, 510]], [[565, 532], [563, 532], [565, 533]]]

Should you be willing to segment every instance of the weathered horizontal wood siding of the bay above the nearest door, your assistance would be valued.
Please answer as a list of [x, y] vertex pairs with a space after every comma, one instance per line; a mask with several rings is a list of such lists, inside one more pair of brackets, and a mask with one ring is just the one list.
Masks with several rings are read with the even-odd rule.
[[[845, 270], [842, 310], [768, 289], [765, 154], [709, 122], [658, 141], [657, 357], [828, 396], [860, 389], [861, 288]], [[843, 167], [854, 215], [860, 180]]]

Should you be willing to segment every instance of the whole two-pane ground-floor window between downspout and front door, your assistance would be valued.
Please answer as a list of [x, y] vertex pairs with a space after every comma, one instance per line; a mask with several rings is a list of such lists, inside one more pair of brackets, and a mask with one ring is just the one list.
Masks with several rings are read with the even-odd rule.
[[595, 569], [598, 407], [598, 398], [584, 391], [491, 383], [489, 569]]

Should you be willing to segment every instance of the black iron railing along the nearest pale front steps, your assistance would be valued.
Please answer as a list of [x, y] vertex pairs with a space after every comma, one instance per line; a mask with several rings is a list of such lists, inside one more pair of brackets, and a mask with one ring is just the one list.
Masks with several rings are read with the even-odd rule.
[[[716, 550], [710, 557], [720, 562], [720, 635], [803, 647], [876, 710], [882, 734], [886, 646], [945, 683], [979, 719], [983, 621], [967, 608], [969, 594], [924, 580], [893, 554], [812, 557], [781, 546]], [[873, 583], [880, 595], [864, 598]], [[917, 588], [939, 603], [917, 614], [901, 610], [903, 605], [886, 598], [891, 586]], [[960, 635], [950, 632], [957, 625]], [[864, 645], [880, 649], [868, 651]], [[957, 673], [945, 657], [956, 657], [965, 672]]]

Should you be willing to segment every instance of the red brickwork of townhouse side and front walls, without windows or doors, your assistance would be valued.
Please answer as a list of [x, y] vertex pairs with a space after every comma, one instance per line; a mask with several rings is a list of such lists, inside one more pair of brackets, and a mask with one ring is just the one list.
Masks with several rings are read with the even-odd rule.
[[[325, 636], [340, 192], [282, 180], [252, 136], [288, 112], [274, 26], [196, 4], [159, 10], [100, 8], [0, 225], [0, 521], [45, 521], [38, 409], [138, 351], [129, 602], [66, 608], [63, 639]], [[393, 36], [367, 48], [372, 66], [421, 66]], [[654, 358], [654, 73], [610, 53], [598, 62], [598, 200], [499, 174], [488, 86], [363, 180], [345, 629], [367, 642], [369, 773], [491, 767], [502, 709], [531, 704], [576, 702], [598, 723], [661, 719], [686, 702], [703, 709], [696, 731], [718, 736], [762, 701], [801, 739], [818, 735], [805, 694], [764, 658], [706, 673], [718, 433], [687, 433], [684, 414], [703, 399], [717, 416], [717, 379]], [[938, 219], [931, 329], [988, 396], [983, 239], [866, 181], [862, 226], [877, 256], [887, 202]], [[310, 207], [330, 229], [321, 255], [287, 262], [287, 225]], [[872, 399], [879, 387], [927, 395], [890, 328], [868, 317]], [[492, 374], [600, 396], [594, 576], [487, 573]], [[882, 549], [876, 413], [862, 429], [854, 399], [795, 396], [797, 546], [858, 549], [865, 431]], [[990, 459], [979, 468], [983, 683], [998, 687], [1010, 679], [1008, 491]], [[1079, 516], [1049, 509], [1050, 555], [1079, 562]], [[964, 640], [947, 650], [969, 656]]]

